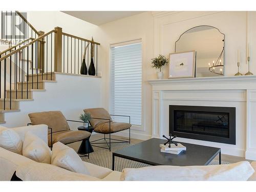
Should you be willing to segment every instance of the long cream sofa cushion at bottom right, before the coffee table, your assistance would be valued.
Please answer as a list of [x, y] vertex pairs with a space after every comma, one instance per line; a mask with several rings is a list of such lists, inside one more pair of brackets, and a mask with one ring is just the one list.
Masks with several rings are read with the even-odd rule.
[[208, 166], [151, 166], [124, 168], [126, 181], [246, 181], [254, 173], [248, 161]]

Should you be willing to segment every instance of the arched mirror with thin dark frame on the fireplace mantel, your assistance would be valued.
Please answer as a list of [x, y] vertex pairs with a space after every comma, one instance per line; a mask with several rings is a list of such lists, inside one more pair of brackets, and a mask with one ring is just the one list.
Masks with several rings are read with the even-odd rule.
[[223, 76], [224, 39], [215, 27], [193, 27], [175, 42], [175, 52], [196, 51], [196, 77]]

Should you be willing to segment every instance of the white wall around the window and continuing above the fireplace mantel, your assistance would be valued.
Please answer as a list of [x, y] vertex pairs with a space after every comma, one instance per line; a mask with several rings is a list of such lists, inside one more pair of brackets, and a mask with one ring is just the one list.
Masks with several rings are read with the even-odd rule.
[[[248, 17], [247, 17], [248, 15]], [[248, 18], [248, 28], [247, 28]], [[143, 124], [140, 131], [132, 131], [136, 138], [146, 138], [152, 135], [152, 88], [146, 82], [156, 79], [156, 70], [151, 68], [151, 58], [158, 54], [168, 56], [175, 50], [175, 41], [187, 29], [199, 25], [217, 27], [225, 34], [225, 75], [237, 73], [237, 50], [240, 50], [240, 72], [247, 72], [246, 45], [247, 30], [250, 44], [251, 72], [256, 74], [253, 55], [256, 55], [256, 12], [144, 12], [131, 17], [116, 20], [100, 29], [105, 33], [102, 46], [106, 51], [106, 69], [103, 82], [105, 107], [109, 105], [109, 54], [110, 44], [142, 38], [142, 72], [143, 94], [142, 115]], [[168, 66], [163, 68], [165, 78], [168, 77]]]

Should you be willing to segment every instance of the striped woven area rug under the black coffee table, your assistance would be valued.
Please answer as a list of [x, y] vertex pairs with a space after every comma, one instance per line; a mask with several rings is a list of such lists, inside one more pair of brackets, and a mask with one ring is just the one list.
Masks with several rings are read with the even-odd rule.
[[[129, 147], [133, 144], [130, 143], [117, 143], [111, 145], [111, 150], [113, 152], [121, 150], [124, 147]], [[106, 149], [100, 149], [90, 154], [90, 158], [88, 157], [81, 157], [83, 161], [93, 163], [99, 166], [103, 166], [106, 168], [112, 168], [112, 152]], [[218, 165], [219, 161], [212, 160], [209, 165]], [[229, 164], [228, 162], [222, 161], [221, 164]], [[123, 168], [140, 168], [145, 166], [151, 166], [148, 164], [140, 163], [137, 161], [132, 161], [124, 158], [115, 158], [115, 170], [121, 172]]]

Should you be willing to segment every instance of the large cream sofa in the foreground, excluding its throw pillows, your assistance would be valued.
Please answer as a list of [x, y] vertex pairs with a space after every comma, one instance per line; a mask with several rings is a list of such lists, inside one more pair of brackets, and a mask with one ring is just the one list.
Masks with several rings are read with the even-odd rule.
[[[48, 142], [48, 127], [47, 125], [33, 125], [33, 126], [24, 126], [24, 127], [15, 127], [14, 131], [18, 133], [20, 138], [24, 140], [24, 136], [26, 132], [30, 131], [34, 135], [38, 136], [46, 143]], [[87, 181], [118, 181], [118, 180], [142, 180], [145, 178], [145, 174], [156, 175], [158, 173], [164, 174], [165, 170], [171, 171], [175, 174], [181, 173], [203, 173], [206, 174], [207, 177], [211, 175], [211, 173], [207, 173], [207, 171], [212, 172], [214, 165], [211, 169], [207, 169], [209, 166], [190, 166], [190, 167], [174, 167], [174, 166], [155, 166], [152, 168], [141, 168], [141, 169], [126, 169], [123, 172], [116, 172], [109, 168], [101, 167], [98, 165], [94, 165], [88, 162], [84, 162], [84, 165], [90, 172], [90, 175], [83, 175], [74, 172], [70, 172], [69, 170], [57, 167], [55, 165], [46, 164], [46, 163], [37, 163], [25, 156], [18, 155], [16, 153], [5, 150], [0, 147], [0, 181], [10, 181], [13, 173], [16, 171], [17, 177], [22, 180], [87, 180]], [[221, 166], [221, 165], [220, 165]], [[216, 170], [214, 172], [218, 172], [219, 165], [216, 165]], [[234, 165], [235, 166], [235, 165]], [[256, 162], [252, 162], [251, 166], [256, 170]], [[247, 166], [248, 168], [248, 166]], [[251, 168], [251, 167], [249, 167]], [[191, 172], [193, 170], [193, 172]], [[133, 177], [131, 173], [135, 173], [136, 177]], [[126, 175], [126, 179], [124, 178]], [[160, 180], [161, 177], [156, 177], [156, 180]], [[194, 178], [186, 177], [178, 177], [185, 178], [184, 180], [193, 180]], [[200, 180], [203, 180], [201, 177]], [[215, 175], [216, 178], [216, 175]], [[150, 178], [149, 180], [154, 180]], [[220, 179], [221, 180], [221, 179]], [[256, 180], [256, 172], [248, 179], [248, 180]]]

